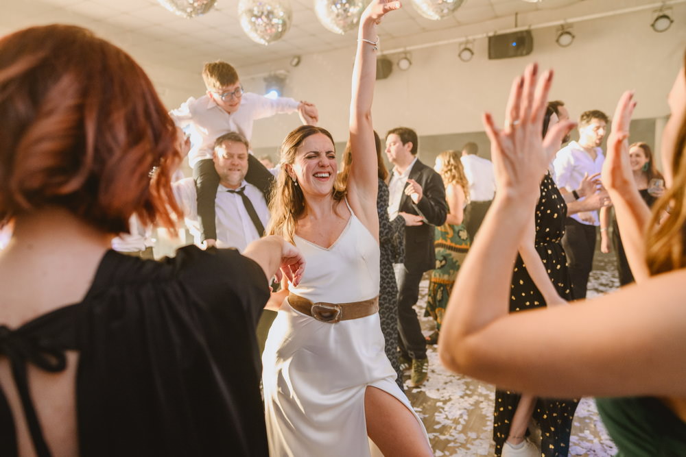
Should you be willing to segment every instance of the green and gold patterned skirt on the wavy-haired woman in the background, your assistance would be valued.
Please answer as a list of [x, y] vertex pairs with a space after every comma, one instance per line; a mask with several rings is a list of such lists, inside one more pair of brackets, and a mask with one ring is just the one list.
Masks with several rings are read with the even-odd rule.
[[464, 224], [445, 223], [436, 227], [435, 236], [436, 269], [431, 271], [426, 312], [436, 320], [436, 330], [440, 332], [450, 292], [458, 277], [460, 265], [469, 251], [470, 242]]

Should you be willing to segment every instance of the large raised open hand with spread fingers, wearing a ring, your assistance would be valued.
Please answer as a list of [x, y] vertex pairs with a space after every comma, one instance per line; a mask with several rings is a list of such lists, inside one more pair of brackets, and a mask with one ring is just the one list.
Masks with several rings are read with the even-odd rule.
[[575, 125], [560, 121], [548, 130], [545, 139], [541, 138], [553, 73], [546, 71], [539, 78], [538, 71], [538, 65], [531, 64], [512, 82], [504, 129], [495, 126], [489, 113], [483, 117], [498, 191], [531, 199], [539, 197], [539, 185], [558, 149], [556, 145]]

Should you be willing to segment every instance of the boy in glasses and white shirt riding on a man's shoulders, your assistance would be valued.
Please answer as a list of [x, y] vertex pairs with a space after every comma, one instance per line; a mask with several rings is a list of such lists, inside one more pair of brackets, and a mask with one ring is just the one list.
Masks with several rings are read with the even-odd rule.
[[[287, 97], [269, 99], [244, 92], [238, 73], [226, 62], [205, 64], [202, 79], [206, 94], [198, 99], [189, 98], [169, 114], [176, 125], [190, 134], [188, 161], [196, 180], [201, 240], [211, 247], [217, 239], [215, 197], [220, 181], [212, 160], [215, 140], [228, 132], [238, 132], [250, 141], [252, 123], [274, 114], [297, 111], [303, 123], [311, 125], [316, 125], [319, 114], [316, 106], [307, 101]], [[274, 177], [252, 153], [248, 162], [246, 181], [257, 186], [264, 195], [269, 195]]]

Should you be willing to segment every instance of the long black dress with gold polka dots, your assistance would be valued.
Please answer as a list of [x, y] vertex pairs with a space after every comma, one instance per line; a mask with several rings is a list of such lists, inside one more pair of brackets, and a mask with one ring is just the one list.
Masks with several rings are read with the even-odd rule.
[[[567, 271], [567, 258], [560, 244], [565, 233], [566, 217], [567, 204], [552, 177], [547, 174], [541, 181], [541, 197], [536, 205], [534, 243], [560, 297], [571, 300], [571, 280]], [[545, 306], [543, 295], [536, 288], [519, 255], [517, 262], [514, 263], [510, 291], [512, 294], [510, 295], [510, 312]], [[512, 343], [516, 344], [514, 341]], [[541, 426], [541, 455], [567, 456], [569, 434], [578, 402], [578, 399], [539, 398], [536, 400], [532, 417]], [[496, 456], [500, 456], [502, 452], [518, 403], [519, 394], [510, 391], [495, 391], [493, 440]]]

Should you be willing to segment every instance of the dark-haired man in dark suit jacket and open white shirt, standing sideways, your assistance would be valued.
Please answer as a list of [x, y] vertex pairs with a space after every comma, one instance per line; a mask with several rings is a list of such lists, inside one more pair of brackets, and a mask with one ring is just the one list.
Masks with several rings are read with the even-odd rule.
[[426, 340], [412, 308], [419, 297], [419, 282], [425, 271], [436, 267], [434, 225], [443, 225], [448, 213], [443, 181], [431, 167], [417, 158], [417, 134], [397, 127], [386, 134], [386, 155], [394, 165], [388, 183], [388, 214], [405, 218], [405, 263], [397, 265], [398, 330], [401, 365], [412, 362], [410, 384], [427, 379], [429, 361]]

